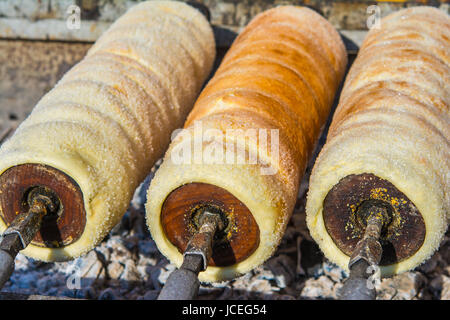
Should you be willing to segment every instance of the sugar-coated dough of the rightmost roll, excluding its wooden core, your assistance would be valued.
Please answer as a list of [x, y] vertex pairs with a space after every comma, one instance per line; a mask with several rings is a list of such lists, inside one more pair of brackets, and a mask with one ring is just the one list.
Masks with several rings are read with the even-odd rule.
[[324, 199], [349, 175], [374, 174], [412, 201], [426, 235], [411, 256], [381, 266], [388, 276], [413, 269], [439, 247], [450, 218], [450, 18], [414, 7], [369, 31], [347, 75], [327, 142], [310, 178], [307, 225], [325, 256], [347, 269], [331, 238]]

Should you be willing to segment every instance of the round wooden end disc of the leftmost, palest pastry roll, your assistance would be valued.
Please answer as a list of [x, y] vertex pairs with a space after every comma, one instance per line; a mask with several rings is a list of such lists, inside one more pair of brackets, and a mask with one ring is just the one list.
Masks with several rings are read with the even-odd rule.
[[81, 236], [86, 225], [83, 194], [68, 175], [42, 164], [23, 164], [0, 176], [0, 217], [6, 225], [29, 209], [28, 198], [40, 192], [52, 198], [54, 210], [44, 216], [42, 226], [31, 242], [38, 247], [61, 248]]

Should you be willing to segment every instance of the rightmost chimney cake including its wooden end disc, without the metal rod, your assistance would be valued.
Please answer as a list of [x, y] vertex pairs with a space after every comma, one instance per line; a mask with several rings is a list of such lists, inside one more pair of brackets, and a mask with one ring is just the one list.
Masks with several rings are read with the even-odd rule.
[[325, 256], [347, 268], [364, 234], [358, 210], [382, 206], [382, 275], [438, 248], [450, 214], [450, 18], [398, 11], [372, 29], [347, 75], [310, 179], [307, 224]]

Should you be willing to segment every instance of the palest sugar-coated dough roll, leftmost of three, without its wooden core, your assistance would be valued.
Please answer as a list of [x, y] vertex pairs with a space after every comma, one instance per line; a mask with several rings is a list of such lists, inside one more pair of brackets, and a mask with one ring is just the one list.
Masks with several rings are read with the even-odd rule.
[[27, 163], [51, 166], [84, 198], [79, 239], [61, 248], [30, 244], [24, 254], [68, 260], [107, 235], [183, 124], [214, 58], [209, 22], [182, 2], [140, 3], [105, 32], [0, 149], [0, 174]]

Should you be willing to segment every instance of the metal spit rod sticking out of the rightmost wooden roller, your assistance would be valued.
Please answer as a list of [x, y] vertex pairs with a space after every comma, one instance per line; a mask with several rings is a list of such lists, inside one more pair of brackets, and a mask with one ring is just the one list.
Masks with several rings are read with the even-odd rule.
[[372, 277], [375, 274], [383, 253], [380, 237], [383, 227], [390, 223], [386, 208], [368, 206], [357, 213], [366, 225], [364, 236], [357, 243], [350, 258], [350, 276], [340, 290], [340, 300], [375, 300], [376, 290]]

